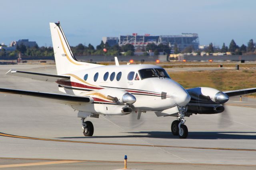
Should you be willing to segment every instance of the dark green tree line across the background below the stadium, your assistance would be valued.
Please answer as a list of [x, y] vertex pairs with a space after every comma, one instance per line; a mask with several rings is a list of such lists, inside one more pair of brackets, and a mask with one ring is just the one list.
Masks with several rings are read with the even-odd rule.
[[[83, 45], [82, 43], [79, 43], [76, 46], [71, 47], [72, 52], [74, 55], [112, 55], [112, 56], [118, 56], [118, 55], [134, 55], [134, 46], [132, 44], [126, 44], [119, 46], [118, 44], [110, 46], [108, 43], [104, 43], [101, 41], [99, 45], [96, 46], [96, 48], [91, 45], [90, 43], [88, 46]], [[220, 49], [214, 48], [214, 45], [212, 43], [209, 44], [207, 49], [204, 50], [198, 50], [196, 51], [193, 46], [188, 46], [184, 50], [180, 51], [177, 44], [174, 44], [173, 47], [170, 47], [169, 45], [165, 44], [158, 44], [155, 43], [149, 43], [146, 45], [146, 47], [139, 48], [140, 52], [144, 52], [143, 55], [149, 55], [149, 52], [153, 52], [154, 55], [159, 55], [160, 52], [163, 52], [166, 55], [169, 55], [170, 53], [192, 53], [197, 52], [198, 55], [200, 55], [201, 52], [207, 52], [207, 53], [214, 53], [214, 52], [221, 52], [226, 53], [230, 52], [232, 54], [242, 55], [243, 53], [254, 53], [255, 47], [253, 40], [249, 40], [247, 43], [247, 46], [242, 44], [240, 47], [236, 44], [234, 40], [231, 40], [230, 45], [226, 46], [225, 43], [223, 43], [222, 47]], [[52, 47], [38, 47], [38, 45], [34, 47], [26, 47], [25, 45], [16, 45], [16, 50], [12, 52], [8, 52], [5, 49], [1, 49], [0, 51], [0, 57], [3, 59], [14, 59], [18, 56], [18, 54], [21, 53], [22, 56], [26, 57], [53, 57], [54, 51]]]

